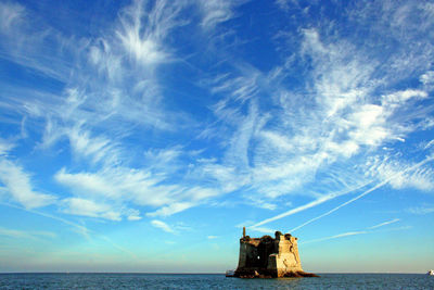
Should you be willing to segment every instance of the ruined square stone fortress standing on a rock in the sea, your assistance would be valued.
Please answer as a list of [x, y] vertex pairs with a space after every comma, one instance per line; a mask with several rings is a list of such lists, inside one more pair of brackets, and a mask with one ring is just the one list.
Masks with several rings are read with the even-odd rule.
[[263, 236], [240, 239], [240, 259], [234, 277], [240, 278], [282, 278], [318, 277], [305, 273], [299, 261], [297, 238], [290, 234], [276, 231], [275, 238]]

